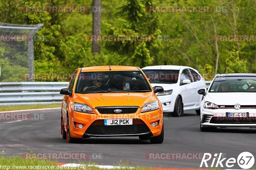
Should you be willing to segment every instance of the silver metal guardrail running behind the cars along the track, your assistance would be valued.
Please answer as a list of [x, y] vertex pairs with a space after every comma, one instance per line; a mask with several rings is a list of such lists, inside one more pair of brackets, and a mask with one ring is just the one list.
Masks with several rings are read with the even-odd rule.
[[[208, 88], [211, 81], [205, 81]], [[61, 103], [60, 89], [68, 82], [2, 82], [0, 106]]]

